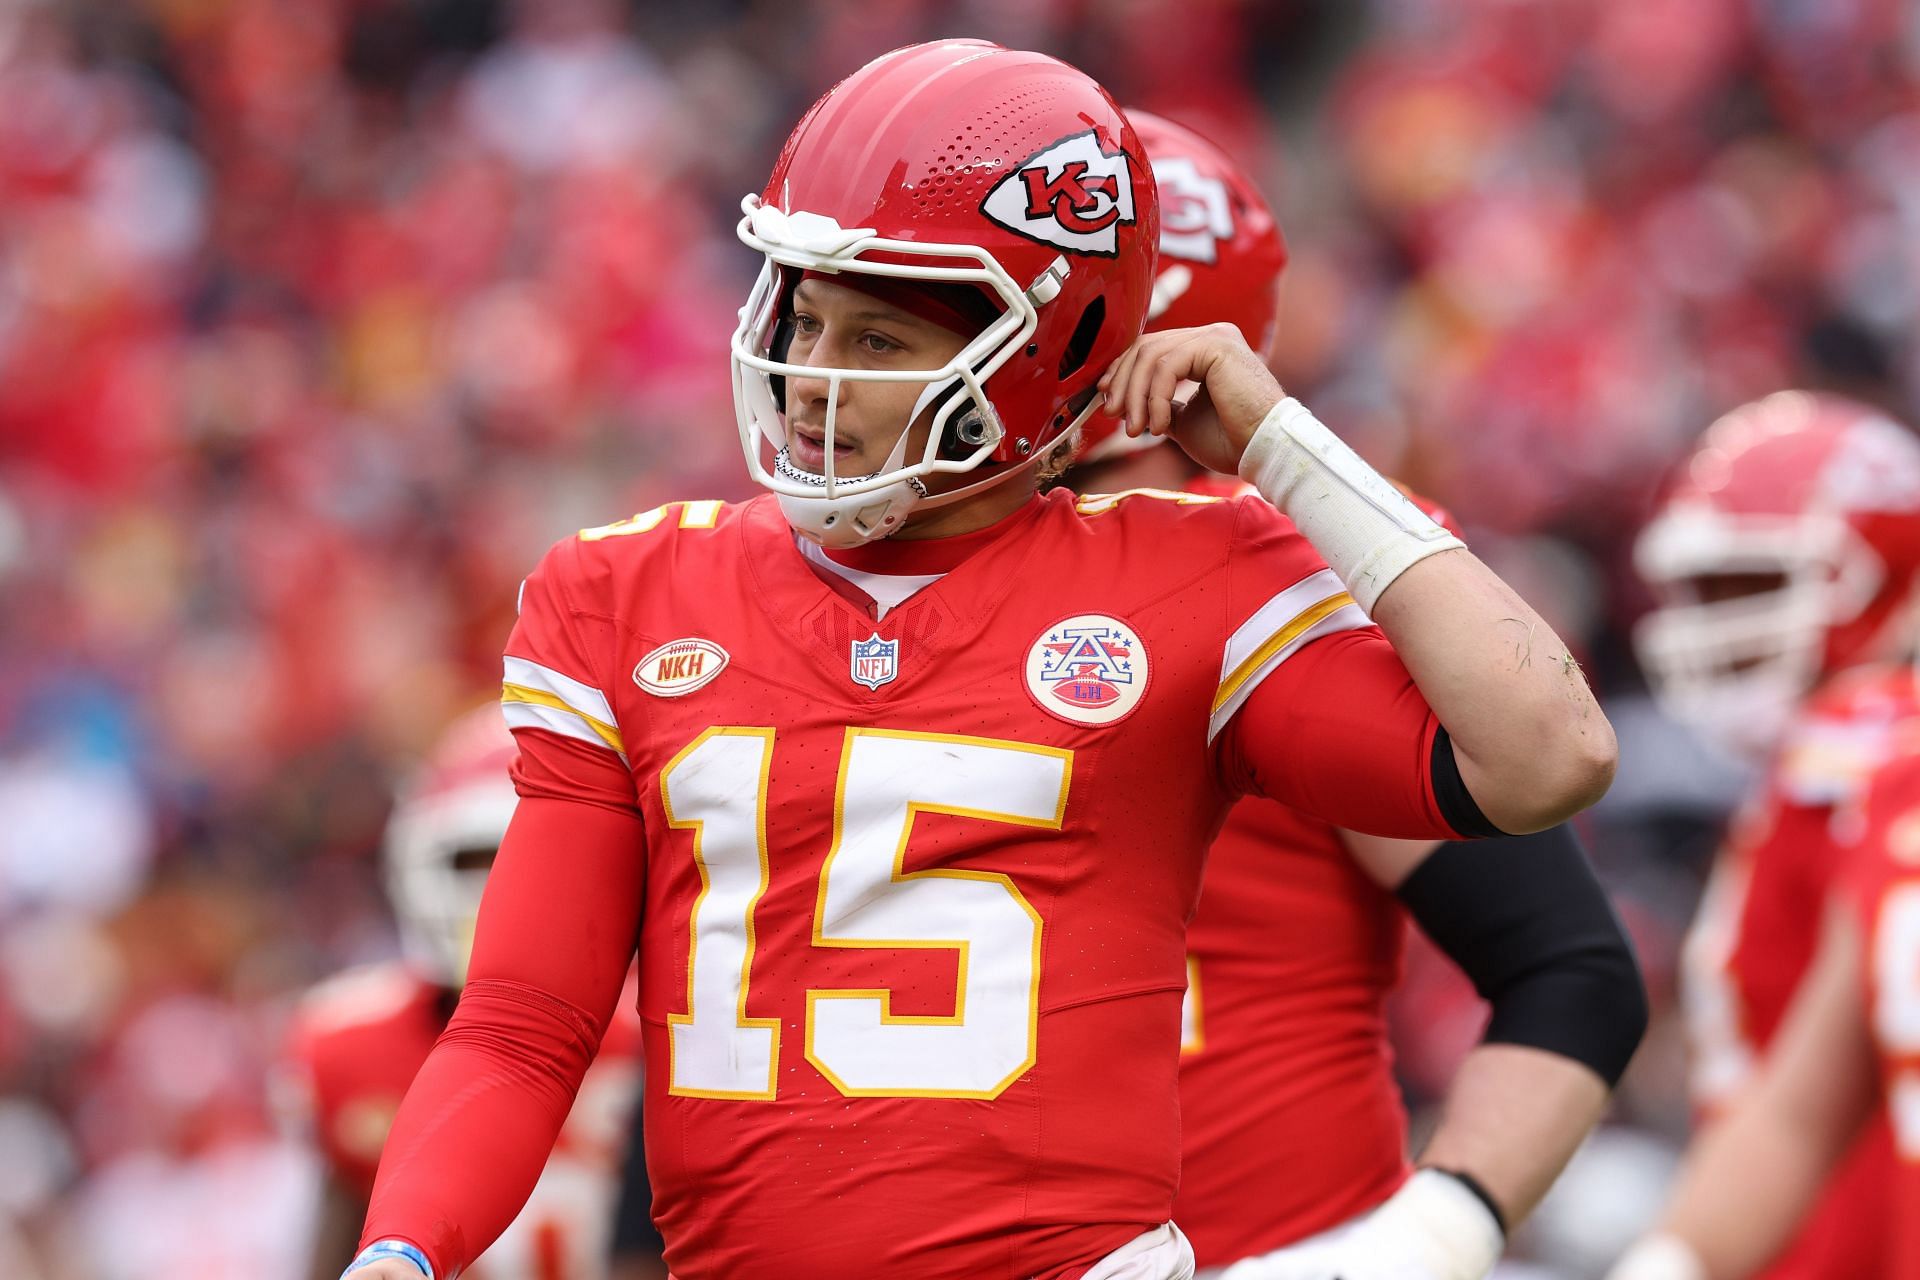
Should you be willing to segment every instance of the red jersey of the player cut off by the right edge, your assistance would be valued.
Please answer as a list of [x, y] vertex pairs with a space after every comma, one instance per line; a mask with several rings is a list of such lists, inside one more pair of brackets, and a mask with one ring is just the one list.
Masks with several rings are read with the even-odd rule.
[[1874, 1119], [1887, 1213], [1870, 1274], [1920, 1280], [1920, 754], [1912, 743], [1874, 777], [1845, 890], [1860, 923], [1864, 1013], [1880, 1057]]

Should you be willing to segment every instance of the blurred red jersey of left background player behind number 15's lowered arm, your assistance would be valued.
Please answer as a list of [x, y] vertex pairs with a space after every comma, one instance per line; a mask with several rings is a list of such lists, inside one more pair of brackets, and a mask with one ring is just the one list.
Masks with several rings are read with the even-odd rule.
[[[620, 1157], [639, 1098], [632, 1002], [607, 1029], [526, 1209], [465, 1274], [470, 1280], [593, 1280], [607, 1274]], [[288, 1032], [290, 1080], [313, 1142], [359, 1197], [372, 1190], [394, 1111], [447, 1025], [447, 992], [405, 965], [349, 969], [315, 986]]]

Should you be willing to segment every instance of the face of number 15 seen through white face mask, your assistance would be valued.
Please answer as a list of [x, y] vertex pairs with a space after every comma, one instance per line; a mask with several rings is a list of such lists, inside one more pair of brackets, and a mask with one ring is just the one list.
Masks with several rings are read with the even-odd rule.
[[[966, 338], [877, 297], [829, 280], [801, 280], [793, 290], [793, 344], [787, 361], [814, 368], [939, 368]], [[828, 378], [787, 378], [787, 451], [801, 470], [826, 472]], [[925, 382], [851, 382], [837, 386], [833, 474], [868, 476], [887, 464]], [[908, 457], [925, 447], [933, 411], [912, 422]]]

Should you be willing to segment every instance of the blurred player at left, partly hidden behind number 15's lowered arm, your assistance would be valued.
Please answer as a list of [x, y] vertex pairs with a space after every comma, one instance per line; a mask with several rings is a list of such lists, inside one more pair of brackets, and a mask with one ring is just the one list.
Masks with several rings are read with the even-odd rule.
[[[340, 1259], [353, 1253], [394, 1111], [453, 1015], [480, 890], [518, 800], [509, 777], [515, 750], [492, 704], [442, 735], [388, 823], [388, 894], [405, 960], [332, 977], [296, 1011], [286, 1075], [324, 1163], [315, 1278], [338, 1276]], [[472, 1280], [609, 1274], [614, 1174], [637, 1096], [639, 1031], [626, 1002], [532, 1197], [467, 1272]], [[624, 1274], [649, 1274], [634, 1253]], [[651, 1274], [664, 1274], [657, 1255]]]

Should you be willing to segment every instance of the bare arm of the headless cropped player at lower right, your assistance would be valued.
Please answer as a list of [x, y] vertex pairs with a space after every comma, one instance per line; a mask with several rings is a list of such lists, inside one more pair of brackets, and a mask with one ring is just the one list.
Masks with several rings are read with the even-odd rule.
[[1874, 1107], [1860, 948], [1853, 913], [1830, 908], [1761, 1073], [1693, 1144], [1659, 1232], [1609, 1280], [1745, 1280], [1793, 1238]]

